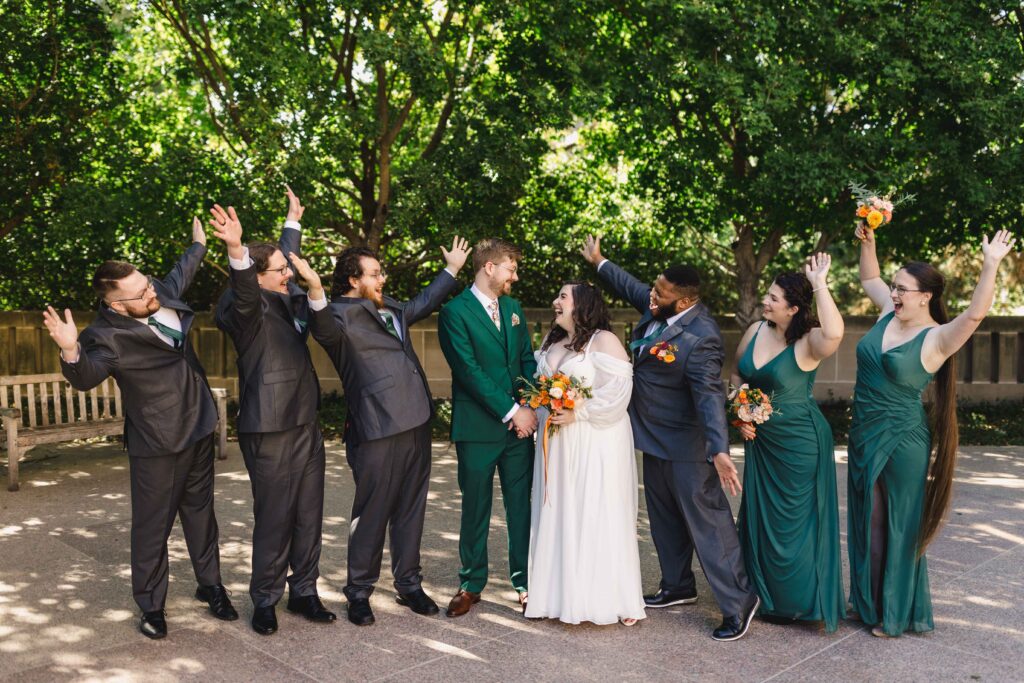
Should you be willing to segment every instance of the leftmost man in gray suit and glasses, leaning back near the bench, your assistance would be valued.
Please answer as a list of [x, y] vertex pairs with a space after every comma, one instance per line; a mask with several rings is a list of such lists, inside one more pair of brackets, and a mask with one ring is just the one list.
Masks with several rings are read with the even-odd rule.
[[106, 261], [92, 287], [96, 318], [81, 335], [71, 311], [61, 321], [43, 313], [60, 347], [60, 369], [86, 391], [113, 376], [125, 411], [125, 449], [131, 473], [131, 584], [142, 610], [139, 631], [167, 635], [167, 539], [181, 518], [199, 588], [218, 618], [239, 617], [220, 581], [217, 520], [213, 514], [213, 439], [217, 408], [188, 339], [195, 313], [181, 301], [206, 253], [199, 219], [193, 245], [164, 280], [129, 263]]

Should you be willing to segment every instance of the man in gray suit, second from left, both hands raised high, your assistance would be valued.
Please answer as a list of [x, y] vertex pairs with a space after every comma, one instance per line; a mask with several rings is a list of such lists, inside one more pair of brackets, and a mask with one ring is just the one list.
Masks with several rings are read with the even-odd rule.
[[287, 189], [288, 217], [278, 245], [243, 246], [234, 209], [211, 210], [231, 273], [216, 321], [239, 354], [239, 445], [253, 490], [251, 624], [261, 635], [278, 630], [274, 606], [286, 577], [289, 611], [312, 622], [336, 618], [316, 592], [327, 461], [316, 421], [319, 383], [306, 343], [309, 299], [326, 297], [312, 270], [306, 269], [308, 297], [292, 282], [288, 259], [301, 261], [303, 208]]

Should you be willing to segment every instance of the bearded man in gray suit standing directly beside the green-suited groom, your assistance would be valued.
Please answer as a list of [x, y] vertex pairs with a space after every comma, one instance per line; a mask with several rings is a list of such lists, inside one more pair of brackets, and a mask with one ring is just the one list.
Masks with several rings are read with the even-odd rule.
[[331, 305], [310, 302], [313, 337], [331, 356], [348, 400], [345, 454], [355, 500], [345, 597], [348, 621], [356, 626], [375, 621], [370, 595], [380, 578], [385, 531], [398, 604], [419, 614], [438, 611], [421, 587], [420, 566], [433, 400], [409, 329], [455, 291], [467, 247], [458, 237], [451, 251], [442, 247], [444, 270], [404, 303], [384, 296], [387, 275], [373, 251], [346, 249], [335, 264]]

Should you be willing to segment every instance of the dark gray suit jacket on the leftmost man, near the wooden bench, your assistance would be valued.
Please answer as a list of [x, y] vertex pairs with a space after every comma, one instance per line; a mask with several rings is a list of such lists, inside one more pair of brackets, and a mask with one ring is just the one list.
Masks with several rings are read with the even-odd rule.
[[101, 304], [96, 319], [79, 335], [78, 362], [60, 359], [63, 376], [81, 391], [111, 376], [117, 381], [124, 401], [125, 447], [131, 456], [183, 451], [217, 426], [217, 407], [188, 339], [196, 315], [180, 300], [204, 254], [206, 247], [193, 244], [164, 280], [153, 281], [161, 305], [180, 316], [185, 334], [180, 348]]

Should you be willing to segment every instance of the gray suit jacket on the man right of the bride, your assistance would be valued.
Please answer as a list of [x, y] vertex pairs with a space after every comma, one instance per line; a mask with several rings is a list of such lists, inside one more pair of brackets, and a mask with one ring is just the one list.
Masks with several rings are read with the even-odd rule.
[[[650, 286], [611, 261], [598, 276], [642, 313], [633, 329], [633, 339], [641, 339], [653, 319]], [[636, 447], [663, 460], [711, 462], [715, 454], [729, 452], [722, 332], [698, 303], [652, 343], [662, 341], [679, 347], [673, 362], [658, 360], [646, 347], [633, 366], [630, 421]]]

